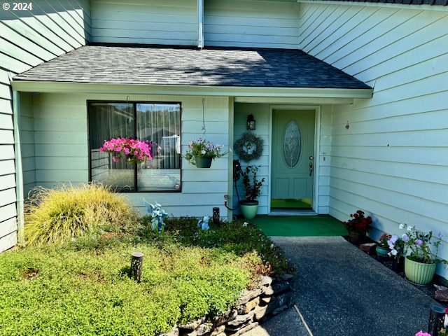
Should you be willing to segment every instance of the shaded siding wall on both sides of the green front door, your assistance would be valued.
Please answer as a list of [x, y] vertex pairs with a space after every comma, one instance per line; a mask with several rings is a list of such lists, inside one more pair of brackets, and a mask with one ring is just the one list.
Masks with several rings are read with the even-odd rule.
[[[281, 109], [276, 105], [276, 109]], [[300, 109], [300, 106], [297, 106], [297, 109]], [[309, 108], [307, 108], [309, 109]], [[258, 214], [267, 214], [268, 204], [269, 204], [269, 151], [271, 146], [271, 127], [270, 123], [270, 113], [271, 113], [271, 105], [270, 104], [246, 104], [246, 103], [236, 103], [235, 104], [235, 128], [234, 128], [234, 143], [241, 135], [246, 132], [246, 120], [249, 114], [253, 114], [253, 117], [257, 121], [257, 130], [253, 131], [258, 137], [263, 139], [264, 148], [261, 158], [258, 160], [254, 160], [251, 162], [244, 162], [241, 160], [241, 166], [243, 169], [248, 165], [260, 166], [260, 176], [266, 179], [265, 183], [262, 186], [262, 194], [258, 197], [259, 207]], [[316, 112], [318, 113], [318, 112]], [[318, 194], [316, 200], [318, 204], [318, 208], [316, 211], [318, 214], [328, 214], [329, 208], [329, 186], [330, 186], [330, 132], [331, 132], [331, 106], [324, 105], [321, 106], [321, 125], [320, 125], [320, 138], [319, 138], [319, 148], [316, 153], [316, 160], [319, 162], [319, 170], [318, 170]], [[238, 158], [238, 155], [234, 153], [235, 158]], [[315, 162], [317, 162], [315, 160]], [[242, 184], [242, 179], [239, 179], [237, 182], [237, 188], [239, 193], [240, 200], [244, 200], [244, 188]], [[235, 189], [233, 193], [233, 207], [237, 207], [238, 200], [235, 194]]]

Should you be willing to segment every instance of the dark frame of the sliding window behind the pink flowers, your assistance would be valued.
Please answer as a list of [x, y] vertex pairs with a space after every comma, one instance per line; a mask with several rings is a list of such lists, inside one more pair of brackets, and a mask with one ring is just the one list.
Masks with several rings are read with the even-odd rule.
[[104, 104], [132, 104], [134, 108], [134, 134], [137, 134], [137, 104], [179, 104], [179, 132], [181, 136], [181, 160], [179, 162], [181, 188], [179, 190], [139, 190], [137, 184], [137, 165], [134, 165], [134, 186], [135, 190], [114, 190], [116, 193], [182, 193], [183, 179], [182, 179], [182, 102], [161, 102], [161, 101], [146, 101], [146, 100], [102, 100], [102, 99], [87, 99], [86, 100], [86, 110], [87, 110], [87, 152], [88, 152], [88, 182], [94, 183], [92, 181], [92, 151], [90, 148], [90, 103], [104, 103]]

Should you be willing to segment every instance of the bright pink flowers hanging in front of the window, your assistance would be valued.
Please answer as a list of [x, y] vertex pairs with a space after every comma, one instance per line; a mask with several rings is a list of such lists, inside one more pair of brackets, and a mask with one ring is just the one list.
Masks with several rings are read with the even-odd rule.
[[117, 137], [104, 141], [99, 151], [111, 153], [113, 162], [125, 158], [127, 163], [140, 164], [146, 160], [153, 160], [152, 146], [151, 141]]

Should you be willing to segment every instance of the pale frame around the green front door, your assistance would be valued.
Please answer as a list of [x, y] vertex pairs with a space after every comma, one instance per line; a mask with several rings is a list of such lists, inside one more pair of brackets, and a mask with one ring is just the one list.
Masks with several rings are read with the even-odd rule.
[[320, 148], [320, 139], [321, 139], [321, 106], [317, 105], [271, 105], [269, 106], [269, 153], [268, 153], [268, 188], [267, 188], [267, 213], [271, 213], [271, 190], [272, 190], [272, 116], [274, 110], [314, 110], [314, 174], [313, 174], [313, 193], [311, 200], [311, 209], [318, 214], [319, 209], [319, 167], [320, 160], [318, 157], [318, 148]]

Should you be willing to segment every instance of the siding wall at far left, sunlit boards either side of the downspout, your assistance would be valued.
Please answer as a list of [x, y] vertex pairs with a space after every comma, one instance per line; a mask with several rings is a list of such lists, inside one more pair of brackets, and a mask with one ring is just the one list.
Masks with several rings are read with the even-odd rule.
[[[90, 40], [90, 1], [32, 1], [33, 9], [0, 11], [0, 251], [17, 241], [13, 109], [10, 77]], [[23, 95], [25, 193], [34, 186], [30, 96]]]

